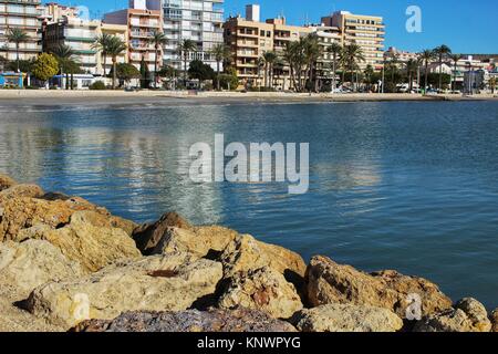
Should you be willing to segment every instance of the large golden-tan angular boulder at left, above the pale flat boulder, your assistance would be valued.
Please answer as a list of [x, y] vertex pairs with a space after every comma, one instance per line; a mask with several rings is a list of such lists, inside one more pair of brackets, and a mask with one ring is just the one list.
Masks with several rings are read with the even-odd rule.
[[142, 256], [123, 229], [110, 227], [110, 221], [95, 211], [76, 211], [70, 217], [69, 223], [59, 229], [46, 225], [23, 229], [17, 240], [25, 239], [49, 241], [90, 272], [116, 261]]

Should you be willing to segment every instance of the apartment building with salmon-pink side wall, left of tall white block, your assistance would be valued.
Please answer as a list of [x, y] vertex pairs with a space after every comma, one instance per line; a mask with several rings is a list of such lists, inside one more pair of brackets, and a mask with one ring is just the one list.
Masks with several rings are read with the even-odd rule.
[[163, 63], [163, 50], [156, 55], [151, 43], [154, 32], [163, 32], [163, 12], [151, 10], [157, 8], [160, 1], [131, 0], [129, 8], [104, 14], [105, 24], [122, 24], [127, 27], [127, 62], [141, 67], [144, 60], [149, 71]]

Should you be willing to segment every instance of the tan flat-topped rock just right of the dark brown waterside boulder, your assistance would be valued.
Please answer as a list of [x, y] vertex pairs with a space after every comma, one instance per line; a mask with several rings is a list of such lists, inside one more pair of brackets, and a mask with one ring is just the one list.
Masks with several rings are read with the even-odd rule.
[[195, 227], [188, 229], [167, 228], [151, 250], [152, 254], [189, 252], [197, 257], [220, 253], [237, 237], [237, 231], [219, 227]]

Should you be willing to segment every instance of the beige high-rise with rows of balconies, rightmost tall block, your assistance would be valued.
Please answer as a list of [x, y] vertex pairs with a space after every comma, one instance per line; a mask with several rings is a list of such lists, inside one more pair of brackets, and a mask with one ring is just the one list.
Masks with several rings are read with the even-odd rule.
[[343, 44], [357, 44], [362, 48], [365, 61], [360, 63], [363, 70], [372, 65], [382, 70], [384, 56], [385, 25], [382, 17], [354, 14], [349, 11], [336, 11], [323, 17], [324, 25], [336, 27], [341, 31]]

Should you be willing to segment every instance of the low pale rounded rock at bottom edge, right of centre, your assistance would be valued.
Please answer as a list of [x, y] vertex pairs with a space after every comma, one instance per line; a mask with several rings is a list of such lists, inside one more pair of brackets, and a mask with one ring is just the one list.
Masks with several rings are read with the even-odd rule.
[[302, 310], [292, 317], [302, 332], [396, 332], [403, 320], [387, 309], [329, 304]]

